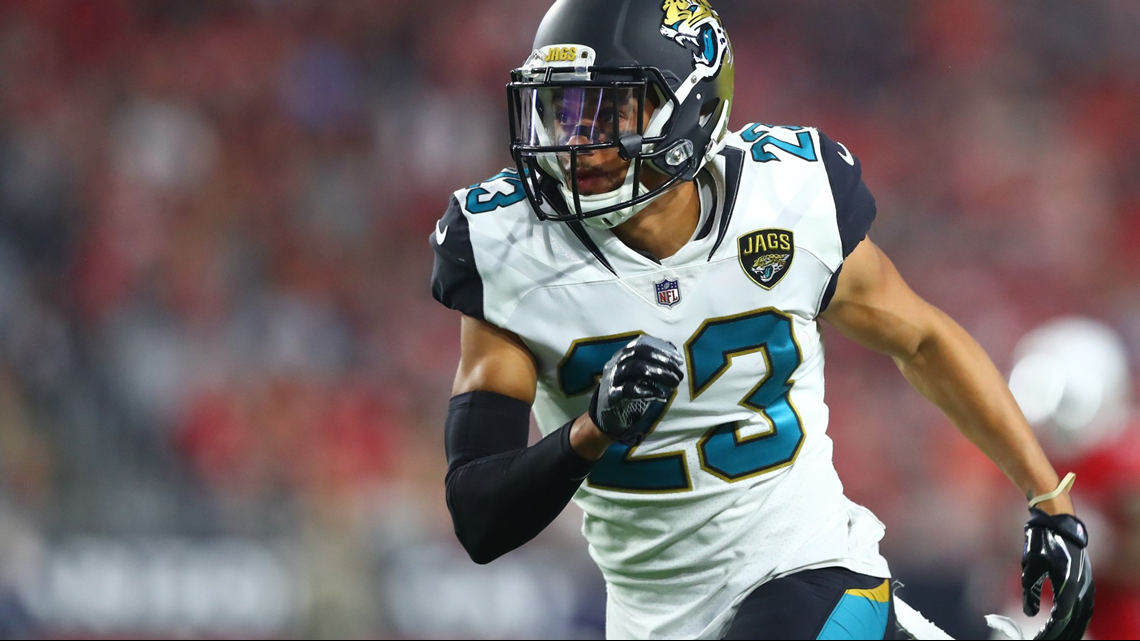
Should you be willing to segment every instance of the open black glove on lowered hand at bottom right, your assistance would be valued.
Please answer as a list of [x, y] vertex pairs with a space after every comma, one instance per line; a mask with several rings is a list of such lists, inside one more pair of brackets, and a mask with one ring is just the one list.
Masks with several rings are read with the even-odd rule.
[[1092, 566], [1089, 534], [1070, 514], [1051, 517], [1031, 508], [1021, 554], [1021, 609], [1035, 616], [1041, 609], [1041, 586], [1053, 586], [1053, 609], [1035, 639], [1080, 639], [1092, 618]]

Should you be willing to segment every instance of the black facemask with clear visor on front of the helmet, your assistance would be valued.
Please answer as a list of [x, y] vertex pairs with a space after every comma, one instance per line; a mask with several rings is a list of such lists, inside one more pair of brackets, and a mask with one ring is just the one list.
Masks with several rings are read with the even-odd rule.
[[511, 154], [540, 219], [614, 227], [703, 159], [687, 140], [661, 145], [677, 102], [658, 70], [586, 66], [580, 49], [565, 65], [536, 51], [512, 72]]

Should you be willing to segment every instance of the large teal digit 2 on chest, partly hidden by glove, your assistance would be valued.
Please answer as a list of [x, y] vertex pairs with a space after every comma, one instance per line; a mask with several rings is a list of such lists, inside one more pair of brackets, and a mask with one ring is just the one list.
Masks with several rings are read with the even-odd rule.
[[[596, 339], [575, 341], [559, 364], [559, 387], [567, 396], [578, 396], [594, 391], [602, 368], [611, 356], [641, 332], [616, 334]], [[677, 392], [674, 390], [661, 414], [656, 417], [650, 432], [657, 429], [661, 416], [669, 411]], [[684, 492], [692, 489], [689, 480], [689, 463], [684, 452], [667, 452], [651, 456], [636, 456], [637, 448], [620, 443], [613, 444], [602, 456], [587, 482], [591, 487], [618, 492]]]

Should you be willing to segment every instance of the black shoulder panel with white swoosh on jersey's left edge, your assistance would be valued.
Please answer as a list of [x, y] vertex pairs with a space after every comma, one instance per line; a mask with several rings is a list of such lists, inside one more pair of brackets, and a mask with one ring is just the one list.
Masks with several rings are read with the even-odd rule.
[[456, 311], [483, 320], [483, 282], [475, 268], [467, 217], [455, 197], [435, 224], [430, 243], [435, 251], [431, 295]]

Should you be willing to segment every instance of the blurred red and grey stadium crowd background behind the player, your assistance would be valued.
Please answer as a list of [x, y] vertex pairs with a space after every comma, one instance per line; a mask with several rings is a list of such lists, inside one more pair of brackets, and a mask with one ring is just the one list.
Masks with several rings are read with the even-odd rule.
[[[426, 240], [508, 163], [546, 6], [0, 3], [0, 635], [601, 633], [577, 512], [477, 567], [442, 496], [458, 317]], [[1140, 3], [716, 7], [733, 128], [858, 154], [872, 236], [1000, 367], [1075, 313], [1135, 362]], [[904, 594], [977, 634], [1024, 503], [829, 338], [849, 494]]]

